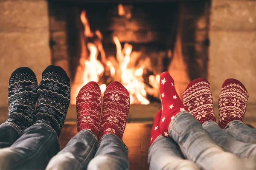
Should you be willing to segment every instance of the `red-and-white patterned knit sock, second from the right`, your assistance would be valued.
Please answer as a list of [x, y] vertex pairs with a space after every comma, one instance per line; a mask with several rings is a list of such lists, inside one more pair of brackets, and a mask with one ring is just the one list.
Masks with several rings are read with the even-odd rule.
[[183, 93], [183, 104], [201, 124], [209, 120], [216, 122], [210, 86], [206, 79], [198, 78], [190, 82]]

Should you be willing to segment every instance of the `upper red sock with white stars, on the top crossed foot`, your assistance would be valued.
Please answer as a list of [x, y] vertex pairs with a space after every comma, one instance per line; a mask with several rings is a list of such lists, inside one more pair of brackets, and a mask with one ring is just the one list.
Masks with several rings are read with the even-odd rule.
[[[178, 96], [174, 80], [168, 72], [160, 75], [160, 94], [162, 100], [162, 115], [160, 121], [160, 132], [163, 136], [168, 133], [168, 127], [174, 116], [180, 111], [188, 111]], [[167, 136], [166, 136], [167, 137]]]

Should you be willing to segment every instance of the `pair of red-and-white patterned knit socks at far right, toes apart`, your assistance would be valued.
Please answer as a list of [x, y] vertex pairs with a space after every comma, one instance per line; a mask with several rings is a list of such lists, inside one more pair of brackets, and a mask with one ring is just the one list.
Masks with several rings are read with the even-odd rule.
[[[219, 126], [224, 129], [229, 122], [243, 121], [249, 95], [244, 85], [236, 79], [226, 79], [218, 99]], [[201, 124], [215, 121], [210, 83], [198, 78], [189, 83], [183, 93], [183, 104]]]

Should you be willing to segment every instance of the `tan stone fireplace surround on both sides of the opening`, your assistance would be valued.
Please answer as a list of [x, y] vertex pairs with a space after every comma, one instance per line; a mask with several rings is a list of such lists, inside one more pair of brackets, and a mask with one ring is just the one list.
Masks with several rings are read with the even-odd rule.
[[[245, 119], [255, 121], [256, 1], [212, 0], [210, 8], [207, 79], [214, 103], [218, 102], [225, 79], [239, 79], [249, 92]], [[40, 82], [42, 71], [52, 64], [48, 1], [1, 0], [0, 40], [0, 122], [3, 122], [8, 113], [8, 79], [12, 71], [27, 66]]]

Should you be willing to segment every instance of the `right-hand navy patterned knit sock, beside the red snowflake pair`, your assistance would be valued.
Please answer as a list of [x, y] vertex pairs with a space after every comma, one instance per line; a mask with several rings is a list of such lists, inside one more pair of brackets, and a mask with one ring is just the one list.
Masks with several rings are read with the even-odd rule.
[[66, 72], [61, 67], [49, 65], [42, 74], [37, 93], [34, 124], [47, 124], [59, 136], [70, 103], [70, 79]]

